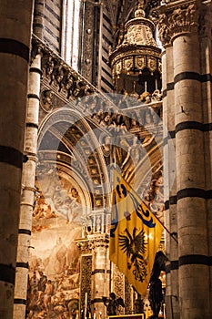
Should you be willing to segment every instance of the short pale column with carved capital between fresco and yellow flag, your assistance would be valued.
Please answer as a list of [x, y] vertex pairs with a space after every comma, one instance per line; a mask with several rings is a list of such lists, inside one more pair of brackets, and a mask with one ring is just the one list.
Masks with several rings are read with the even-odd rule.
[[[96, 317], [106, 318], [106, 306], [102, 297], [108, 297], [110, 292], [110, 262], [109, 262], [109, 237], [105, 233], [94, 233], [87, 235], [85, 239], [76, 241], [77, 247], [81, 251], [81, 271], [87, 273], [90, 282], [81, 274], [80, 295], [81, 312], [85, 308], [87, 295], [87, 306], [90, 307], [92, 315], [96, 312]], [[91, 259], [90, 270], [85, 271], [86, 259]], [[87, 267], [87, 266], [86, 266]]]

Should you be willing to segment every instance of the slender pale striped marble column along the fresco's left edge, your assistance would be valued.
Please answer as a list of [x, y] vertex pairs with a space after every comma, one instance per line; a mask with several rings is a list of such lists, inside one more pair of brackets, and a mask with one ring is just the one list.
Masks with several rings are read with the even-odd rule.
[[25, 128], [25, 156], [27, 161], [23, 166], [22, 177], [22, 197], [15, 270], [14, 319], [25, 318], [30, 237], [35, 203], [36, 145], [40, 77], [42, 75], [40, 53], [35, 56], [29, 72], [29, 89], [27, 96], [28, 102]]

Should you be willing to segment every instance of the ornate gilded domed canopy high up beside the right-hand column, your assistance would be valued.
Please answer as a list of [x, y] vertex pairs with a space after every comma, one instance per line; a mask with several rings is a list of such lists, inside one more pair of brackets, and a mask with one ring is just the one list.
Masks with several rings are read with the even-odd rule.
[[154, 23], [145, 17], [143, 4], [139, 3], [135, 17], [120, 30], [117, 46], [109, 57], [117, 92], [135, 96], [161, 88], [161, 50], [154, 31]]

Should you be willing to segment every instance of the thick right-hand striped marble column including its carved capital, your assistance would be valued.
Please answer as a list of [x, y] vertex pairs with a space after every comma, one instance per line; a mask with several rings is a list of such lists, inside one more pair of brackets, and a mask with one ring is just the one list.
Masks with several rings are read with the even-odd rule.
[[173, 2], [161, 9], [160, 36], [173, 44], [175, 104], [170, 120], [175, 122], [176, 137], [178, 285], [183, 319], [211, 317], [207, 234], [211, 226], [206, 205], [210, 164], [205, 157], [199, 22], [196, 1]]

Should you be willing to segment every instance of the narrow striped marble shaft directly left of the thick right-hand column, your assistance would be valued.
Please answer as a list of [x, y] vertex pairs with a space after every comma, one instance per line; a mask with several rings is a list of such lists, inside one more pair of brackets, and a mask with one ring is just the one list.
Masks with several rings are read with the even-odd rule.
[[[164, 43], [162, 57], [163, 66], [163, 125], [165, 131], [164, 145], [164, 177], [165, 177], [165, 216], [166, 252], [167, 252], [167, 316], [179, 318], [178, 298], [178, 246], [177, 246], [177, 190], [176, 190], [176, 150], [175, 150], [175, 98], [174, 98], [174, 67], [173, 46]], [[174, 239], [174, 238], [176, 239]]]

